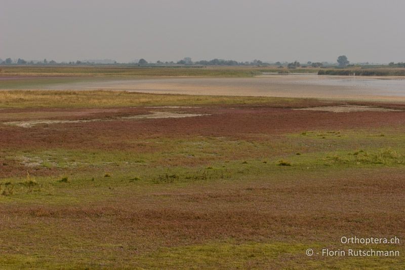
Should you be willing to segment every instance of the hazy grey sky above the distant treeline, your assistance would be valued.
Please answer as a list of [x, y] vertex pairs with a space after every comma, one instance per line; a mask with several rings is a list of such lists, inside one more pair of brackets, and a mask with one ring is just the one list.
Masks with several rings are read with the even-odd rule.
[[405, 61], [403, 0], [0, 0], [0, 58]]

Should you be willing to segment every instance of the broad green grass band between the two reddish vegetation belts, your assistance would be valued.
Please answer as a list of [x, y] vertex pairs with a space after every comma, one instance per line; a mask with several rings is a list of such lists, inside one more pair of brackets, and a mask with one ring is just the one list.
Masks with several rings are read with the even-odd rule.
[[[345, 130], [306, 131], [257, 142], [226, 137], [156, 138], [145, 142], [150, 148], [143, 151], [80, 147], [8, 150], [5, 161], [24, 160], [28, 165], [38, 164], [34, 168], [54, 169], [57, 175], [4, 178], [0, 188], [5, 196], [19, 200], [36, 201], [48, 195], [49, 202], [66, 203], [73, 199], [67, 196], [70, 192], [64, 194], [66, 189], [83, 190], [74, 201], [87, 201], [98, 198], [106, 189], [124, 190], [137, 185], [209, 183], [265, 179], [270, 175], [278, 178], [286, 173], [403, 166], [403, 134], [384, 132], [390, 135], [382, 137], [378, 130], [374, 134]], [[355, 143], [358, 141], [363, 142], [361, 148]], [[29, 181], [34, 181], [35, 186], [21, 184]]]

